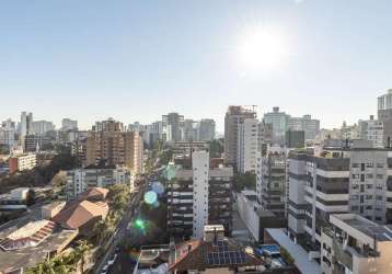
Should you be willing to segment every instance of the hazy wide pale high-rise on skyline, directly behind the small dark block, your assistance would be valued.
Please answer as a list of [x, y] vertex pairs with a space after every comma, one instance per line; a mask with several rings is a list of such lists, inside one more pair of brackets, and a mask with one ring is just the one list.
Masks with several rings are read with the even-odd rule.
[[288, 129], [304, 132], [304, 139], [313, 140], [320, 133], [320, 121], [312, 119], [311, 115], [303, 115], [302, 117], [290, 117], [288, 119]]

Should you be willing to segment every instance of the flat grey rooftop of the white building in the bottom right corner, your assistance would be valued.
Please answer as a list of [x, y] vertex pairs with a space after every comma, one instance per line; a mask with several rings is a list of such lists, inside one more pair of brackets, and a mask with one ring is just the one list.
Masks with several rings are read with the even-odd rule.
[[[337, 224], [333, 221], [333, 218], [341, 220], [368, 237], [376, 238], [378, 241], [392, 241], [392, 226], [390, 225], [381, 226], [356, 214], [334, 214], [331, 217], [330, 221], [335, 226]], [[342, 227], [339, 228], [342, 229]]]

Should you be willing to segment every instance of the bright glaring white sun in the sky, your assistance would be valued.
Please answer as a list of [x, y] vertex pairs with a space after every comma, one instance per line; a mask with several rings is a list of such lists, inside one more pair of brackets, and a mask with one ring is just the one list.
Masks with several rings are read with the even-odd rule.
[[279, 70], [287, 59], [288, 45], [281, 32], [257, 27], [242, 33], [238, 57], [245, 73]]

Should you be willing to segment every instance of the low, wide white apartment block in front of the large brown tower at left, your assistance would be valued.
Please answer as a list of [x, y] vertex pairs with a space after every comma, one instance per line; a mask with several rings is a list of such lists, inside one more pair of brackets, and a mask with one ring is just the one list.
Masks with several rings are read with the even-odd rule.
[[127, 184], [134, 189], [135, 174], [127, 169], [74, 169], [67, 171], [67, 199], [76, 199], [92, 187]]

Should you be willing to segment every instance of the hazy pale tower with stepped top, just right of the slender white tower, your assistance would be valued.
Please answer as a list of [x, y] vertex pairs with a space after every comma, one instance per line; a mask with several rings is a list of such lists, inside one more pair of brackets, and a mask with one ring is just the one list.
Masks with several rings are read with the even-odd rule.
[[275, 106], [273, 112], [264, 114], [264, 122], [273, 125], [273, 138], [275, 144], [285, 145], [285, 136], [289, 126], [289, 115], [280, 112]]

